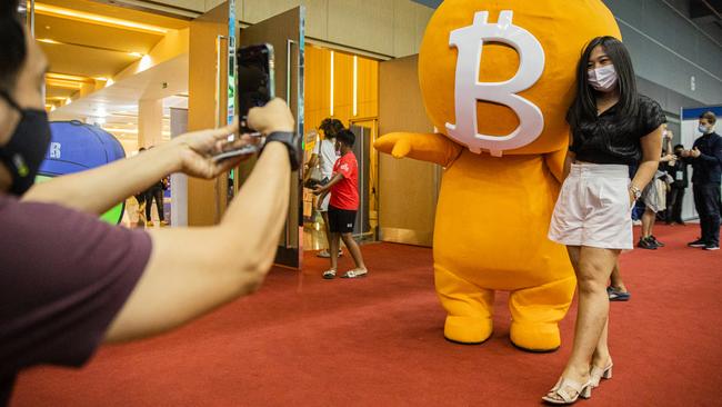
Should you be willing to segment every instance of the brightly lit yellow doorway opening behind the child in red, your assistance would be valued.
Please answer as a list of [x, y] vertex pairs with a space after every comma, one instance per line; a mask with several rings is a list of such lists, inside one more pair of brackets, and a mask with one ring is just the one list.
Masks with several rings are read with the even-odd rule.
[[[305, 157], [318, 149], [318, 127], [323, 119], [340, 120], [357, 136], [353, 153], [359, 163], [360, 207], [354, 238], [375, 241], [378, 226], [378, 137], [379, 61], [310, 43], [305, 52]], [[303, 190], [304, 250], [325, 250], [325, 226], [314, 210], [315, 197]]]

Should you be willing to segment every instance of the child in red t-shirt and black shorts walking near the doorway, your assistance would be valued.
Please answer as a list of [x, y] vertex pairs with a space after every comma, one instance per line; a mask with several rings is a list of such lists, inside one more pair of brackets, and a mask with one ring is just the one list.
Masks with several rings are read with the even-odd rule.
[[319, 202], [323, 202], [325, 196], [331, 193], [329, 201], [329, 246], [331, 254], [331, 268], [323, 272], [323, 278], [332, 279], [338, 269], [340, 239], [351, 252], [355, 268], [347, 271], [342, 278], [364, 277], [368, 274], [363, 264], [361, 249], [353, 240], [353, 225], [359, 210], [359, 165], [351, 148], [355, 142], [355, 136], [349, 130], [341, 130], [335, 137], [337, 150], [341, 151], [341, 158], [333, 166], [333, 177], [325, 186], [317, 188], [313, 193], [320, 195]]

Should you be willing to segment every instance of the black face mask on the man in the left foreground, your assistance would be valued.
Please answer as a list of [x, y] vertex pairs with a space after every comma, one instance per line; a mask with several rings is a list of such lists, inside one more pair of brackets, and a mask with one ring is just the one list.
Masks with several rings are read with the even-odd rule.
[[50, 146], [50, 123], [44, 110], [22, 109], [3, 90], [0, 90], [0, 97], [21, 115], [10, 141], [0, 146], [0, 162], [12, 177], [10, 193], [21, 196], [34, 183], [40, 163], [46, 158]]

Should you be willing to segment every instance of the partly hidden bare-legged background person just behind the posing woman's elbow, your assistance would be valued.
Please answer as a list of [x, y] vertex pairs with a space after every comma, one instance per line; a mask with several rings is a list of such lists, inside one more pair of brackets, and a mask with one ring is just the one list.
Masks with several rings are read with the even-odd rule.
[[664, 247], [664, 244], [654, 237], [654, 222], [656, 221], [656, 214], [666, 209], [666, 190], [668, 185], [672, 179], [666, 173], [669, 163], [674, 165], [676, 156], [672, 153], [672, 135], [663, 125], [662, 137], [664, 147], [662, 150], [662, 158], [654, 178], [644, 187], [642, 191], [642, 200], [644, 201], [644, 215], [642, 215], [642, 232], [636, 247], [641, 249], [656, 250]]

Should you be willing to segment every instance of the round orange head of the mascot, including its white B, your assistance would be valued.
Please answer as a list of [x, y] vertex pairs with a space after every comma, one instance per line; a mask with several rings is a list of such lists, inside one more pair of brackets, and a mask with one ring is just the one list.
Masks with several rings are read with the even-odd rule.
[[431, 121], [473, 152], [563, 149], [576, 63], [600, 36], [621, 38], [601, 0], [445, 0], [419, 56]]

